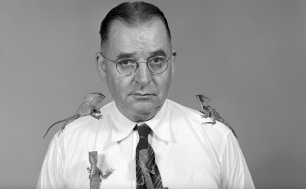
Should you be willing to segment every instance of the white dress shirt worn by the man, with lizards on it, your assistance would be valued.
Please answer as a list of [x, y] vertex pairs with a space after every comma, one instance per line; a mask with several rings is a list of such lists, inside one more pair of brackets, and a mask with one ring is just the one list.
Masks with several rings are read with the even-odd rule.
[[[136, 122], [124, 117], [115, 102], [101, 107], [103, 119], [81, 117], [55, 134], [49, 144], [37, 188], [89, 188], [89, 151], [97, 151], [103, 174], [115, 169], [100, 188], [136, 188]], [[145, 123], [163, 186], [179, 188], [254, 188], [238, 141], [230, 129], [199, 111], [166, 100]], [[139, 124], [139, 123], [138, 123]]]

